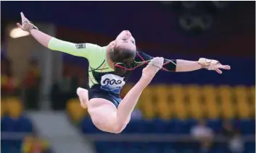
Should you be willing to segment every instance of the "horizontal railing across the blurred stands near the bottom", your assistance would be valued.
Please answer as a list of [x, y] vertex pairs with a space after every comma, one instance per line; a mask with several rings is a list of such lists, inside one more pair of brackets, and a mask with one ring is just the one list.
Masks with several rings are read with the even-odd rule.
[[[1, 140], [17, 140], [22, 139], [30, 133], [1, 133]], [[123, 142], [192, 142], [195, 139], [190, 135], [175, 135], [175, 134], [85, 134], [86, 139], [90, 141], [123, 141]], [[45, 139], [59, 139], [68, 140], [76, 139], [69, 134], [65, 135], [49, 135]], [[255, 142], [255, 135], [241, 136], [244, 142]], [[226, 136], [214, 136], [213, 141], [226, 142], [228, 137]]]

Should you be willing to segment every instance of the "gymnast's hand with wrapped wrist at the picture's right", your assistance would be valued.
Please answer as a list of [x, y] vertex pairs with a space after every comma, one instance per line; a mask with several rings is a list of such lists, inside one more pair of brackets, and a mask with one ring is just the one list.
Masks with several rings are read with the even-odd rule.
[[207, 70], [217, 71], [218, 74], [222, 74], [222, 71], [220, 69], [225, 69], [225, 70], [231, 69], [231, 66], [229, 65], [222, 65], [217, 60], [212, 60], [207, 58], [200, 58], [198, 63], [201, 64], [202, 68], [205, 68]]

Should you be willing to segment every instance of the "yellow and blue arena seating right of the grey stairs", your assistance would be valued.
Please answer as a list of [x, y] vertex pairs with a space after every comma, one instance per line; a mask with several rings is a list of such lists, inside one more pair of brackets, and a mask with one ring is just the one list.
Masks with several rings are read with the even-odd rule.
[[[125, 86], [124, 92], [132, 86]], [[252, 107], [253, 106], [253, 107]], [[148, 87], [139, 100], [137, 108], [144, 118], [132, 120], [123, 134], [189, 134], [199, 119], [208, 117], [207, 126], [220, 134], [223, 120], [231, 119], [234, 128], [244, 136], [255, 134], [254, 87], [212, 86], [166, 86]], [[79, 123], [84, 134], [102, 134], [80, 108], [78, 99], [67, 102], [67, 113]], [[206, 115], [205, 115], [205, 114]], [[236, 115], [237, 113], [237, 115]], [[105, 133], [104, 133], [105, 134]], [[191, 143], [142, 143], [96, 141], [97, 153], [198, 153], [199, 144]], [[227, 144], [213, 144], [211, 153], [231, 153]], [[244, 153], [254, 153], [255, 143], [246, 143]]]

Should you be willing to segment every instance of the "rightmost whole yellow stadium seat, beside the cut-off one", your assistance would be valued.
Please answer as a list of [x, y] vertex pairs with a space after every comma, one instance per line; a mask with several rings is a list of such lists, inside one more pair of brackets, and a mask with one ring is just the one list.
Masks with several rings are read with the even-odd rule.
[[234, 88], [234, 99], [236, 100], [236, 109], [240, 118], [249, 118], [251, 105], [249, 105], [247, 88], [238, 86]]

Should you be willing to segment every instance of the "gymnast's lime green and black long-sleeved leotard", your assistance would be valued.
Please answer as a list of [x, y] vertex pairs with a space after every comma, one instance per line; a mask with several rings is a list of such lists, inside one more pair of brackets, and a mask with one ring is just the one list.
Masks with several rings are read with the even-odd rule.
[[[91, 43], [75, 44], [52, 38], [48, 44], [48, 48], [54, 51], [69, 53], [73, 56], [87, 58], [89, 63], [89, 100], [92, 98], [104, 98], [110, 100], [116, 107], [121, 102], [120, 90], [125, 85], [133, 69], [146, 66], [153, 58], [146, 53], [137, 51], [132, 66], [120, 74], [107, 64], [107, 46], [101, 47]], [[116, 68], [122, 69], [118, 64]], [[162, 70], [176, 71], [176, 60], [165, 59]]]

